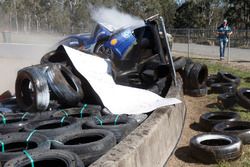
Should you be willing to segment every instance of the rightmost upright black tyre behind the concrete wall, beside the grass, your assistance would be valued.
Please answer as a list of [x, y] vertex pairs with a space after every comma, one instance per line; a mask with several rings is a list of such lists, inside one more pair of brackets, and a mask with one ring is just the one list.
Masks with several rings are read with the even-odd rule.
[[195, 63], [189, 73], [190, 89], [199, 89], [206, 84], [208, 68], [205, 64]]

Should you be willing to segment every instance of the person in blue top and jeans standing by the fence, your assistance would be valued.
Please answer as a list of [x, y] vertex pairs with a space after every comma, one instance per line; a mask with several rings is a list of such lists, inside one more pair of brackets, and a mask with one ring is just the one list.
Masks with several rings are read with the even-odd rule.
[[228, 43], [228, 38], [232, 34], [232, 30], [228, 26], [227, 20], [224, 20], [223, 24], [221, 24], [217, 28], [217, 34], [218, 34], [219, 45], [220, 45], [220, 60], [224, 60], [224, 53], [225, 53], [225, 48]]

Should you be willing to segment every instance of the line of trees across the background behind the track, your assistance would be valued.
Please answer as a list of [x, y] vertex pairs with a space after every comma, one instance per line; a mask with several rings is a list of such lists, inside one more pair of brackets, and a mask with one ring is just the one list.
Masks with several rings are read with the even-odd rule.
[[224, 17], [237, 28], [250, 27], [249, 0], [0, 0], [0, 30], [88, 31], [91, 5], [143, 19], [159, 13], [167, 27], [216, 29]]

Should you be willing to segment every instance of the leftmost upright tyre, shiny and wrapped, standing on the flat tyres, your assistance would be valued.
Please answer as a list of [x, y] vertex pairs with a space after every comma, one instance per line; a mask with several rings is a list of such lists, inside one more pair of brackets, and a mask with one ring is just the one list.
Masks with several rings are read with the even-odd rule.
[[16, 100], [22, 110], [41, 112], [47, 109], [49, 87], [39, 67], [27, 67], [18, 71], [15, 85]]

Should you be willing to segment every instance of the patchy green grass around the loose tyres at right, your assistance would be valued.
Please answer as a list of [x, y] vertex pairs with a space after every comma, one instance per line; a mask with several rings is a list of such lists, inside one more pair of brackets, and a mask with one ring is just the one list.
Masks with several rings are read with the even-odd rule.
[[[241, 87], [247, 87], [250, 88], [250, 72], [243, 71], [237, 68], [233, 68], [230, 66], [227, 66], [226, 64], [221, 64], [218, 62], [211, 62], [209, 60], [201, 60], [201, 59], [194, 59], [194, 61], [204, 63], [208, 66], [209, 74], [217, 74], [218, 71], [224, 71], [224, 72], [230, 72], [236, 76], [239, 76], [241, 78], [240, 88]], [[217, 99], [217, 94], [209, 94], [208, 99], [211, 101], [214, 101]], [[241, 119], [244, 121], [250, 121], [250, 111], [240, 107], [239, 105], [235, 105], [230, 110], [238, 112], [241, 116]], [[210, 105], [210, 111], [221, 111], [221, 108], [216, 104]], [[250, 145], [244, 145], [243, 147], [243, 153], [241, 157], [236, 161], [230, 161], [230, 162], [219, 162], [217, 167], [250, 167]]]

